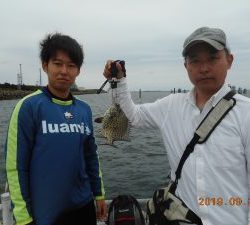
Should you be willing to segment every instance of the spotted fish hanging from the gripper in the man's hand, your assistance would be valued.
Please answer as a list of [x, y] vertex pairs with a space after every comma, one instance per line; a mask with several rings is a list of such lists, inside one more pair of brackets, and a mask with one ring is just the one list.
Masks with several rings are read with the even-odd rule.
[[102, 123], [100, 134], [106, 138], [106, 144], [114, 146], [114, 141], [129, 141], [131, 125], [119, 104], [112, 104], [103, 117], [94, 121]]

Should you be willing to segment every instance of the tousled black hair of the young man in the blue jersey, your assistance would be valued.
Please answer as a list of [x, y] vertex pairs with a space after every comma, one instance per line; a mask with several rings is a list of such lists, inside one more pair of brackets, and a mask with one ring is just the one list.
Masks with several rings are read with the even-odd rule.
[[64, 51], [80, 69], [84, 59], [82, 46], [73, 38], [61, 33], [48, 34], [40, 42], [40, 59], [42, 63], [49, 62], [58, 51]]

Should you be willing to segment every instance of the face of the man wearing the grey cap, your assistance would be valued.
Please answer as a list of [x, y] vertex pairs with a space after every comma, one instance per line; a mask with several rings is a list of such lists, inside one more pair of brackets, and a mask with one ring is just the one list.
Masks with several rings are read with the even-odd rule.
[[190, 48], [184, 65], [198, 92], [214, 94], [224, 84], [232, 62], [233, 56], [225, 50], [199, 43]]

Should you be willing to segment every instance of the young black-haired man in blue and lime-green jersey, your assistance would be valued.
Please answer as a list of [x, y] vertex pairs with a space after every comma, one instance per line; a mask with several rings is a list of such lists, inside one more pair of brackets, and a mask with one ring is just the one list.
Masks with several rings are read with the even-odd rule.
[[17, 225], [95, 225], [106, 205], [92, 112], [70, 93], [83, 50], [59, 33], [40, 48], [48, 85], [17, 103], [7, 136], [14, 218]]

